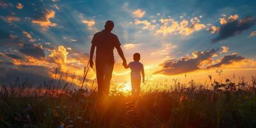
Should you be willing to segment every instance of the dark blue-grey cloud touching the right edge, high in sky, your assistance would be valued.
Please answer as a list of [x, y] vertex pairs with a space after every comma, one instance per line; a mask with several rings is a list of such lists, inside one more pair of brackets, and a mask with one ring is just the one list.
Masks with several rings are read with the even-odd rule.
[[228, 20], [226, 24], [220, 26], [218, 36], [212, 39], [212, 43], [239, 35], [242, 31], [251, 28], [255, 23], [256, 19], [253, 16], [248, 16], [244, 19]]

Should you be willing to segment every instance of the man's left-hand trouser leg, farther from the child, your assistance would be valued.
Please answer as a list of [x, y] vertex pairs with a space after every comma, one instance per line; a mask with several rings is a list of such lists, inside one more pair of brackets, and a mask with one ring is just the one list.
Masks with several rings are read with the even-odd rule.
[[97, 76], [97, 83], [98, 83], [98, 93], [103, 93], [104, 87], [104, 65], [99, 61], [95, 62], [96, 66], [96, 76]]

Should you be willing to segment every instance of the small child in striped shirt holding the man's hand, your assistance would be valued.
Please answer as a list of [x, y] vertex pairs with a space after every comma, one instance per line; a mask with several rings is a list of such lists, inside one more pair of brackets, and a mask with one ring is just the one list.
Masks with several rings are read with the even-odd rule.
[[125, 68], [131, 68], [131, 84], [132, 84], [132, 95], [140, 94], [140, 83], [141, 83], [141, 75], [142, 82], [145, 81], [145, 73], [143, 64], [140, 63], [140, 54], [134, 53], [133, 60], [128, 65], [125, 63]]

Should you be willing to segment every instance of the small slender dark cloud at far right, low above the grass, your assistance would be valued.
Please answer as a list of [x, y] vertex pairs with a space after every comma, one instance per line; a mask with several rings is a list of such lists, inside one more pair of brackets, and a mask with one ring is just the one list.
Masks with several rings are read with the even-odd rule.
[[227, 56], [224, 56], [223, 58], [221, 58], [219, 63], [216, 63], [214, 65], [211, 65], [207, 68], [214, 68], [214, 67], [221, 67], [221, 65], [229, 65], [235, 61], [242, 61], [245, 60], [246, 58], [243, 56], [239, 56], [237, 54], [230, 54]]

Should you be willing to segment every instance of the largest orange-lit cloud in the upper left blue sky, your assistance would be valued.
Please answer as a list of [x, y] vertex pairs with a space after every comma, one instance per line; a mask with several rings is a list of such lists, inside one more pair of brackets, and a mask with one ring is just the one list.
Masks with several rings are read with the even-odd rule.
[[56, 27], [56, 23], [52, 23], [50, 19], [55, 17], [55, 12], [53, 10], [45, 10], [42, 12], [42, 17], [32, 20], [33, 24], [38, 24], [43, 30], [47, 30], [49, 27]]

